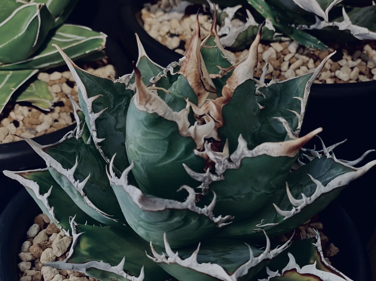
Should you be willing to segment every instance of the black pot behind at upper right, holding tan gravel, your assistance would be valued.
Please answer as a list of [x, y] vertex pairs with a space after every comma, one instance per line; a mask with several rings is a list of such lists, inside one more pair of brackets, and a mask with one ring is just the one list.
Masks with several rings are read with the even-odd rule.
[[[148, 56], [161, 66], [179, 60], [180, 54], [168, 49], [147, 34], [142, 27], [141, 9], [145, 0], [123, 0], [120, 9], [120, 39], [126, 50], [138, 56], [134, 33], [137, 33]], [[376, 81], [347, 84], [313, 84], [301, 135], [323, 127], [320, 133], [326, 146], [347, 139], [335, 149], [338, 159], [354, 160], [366, 150], [376, 149]], [[321, 149], [317, 139], [309, 145]], [[370, 154], [364, 161], [375, 159]], [[370, 239], [376, 224], [375, 168], [342, 192], [341, 205], [362, 230], [364, 244]]]

